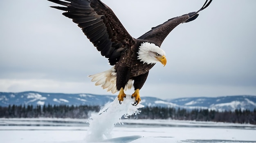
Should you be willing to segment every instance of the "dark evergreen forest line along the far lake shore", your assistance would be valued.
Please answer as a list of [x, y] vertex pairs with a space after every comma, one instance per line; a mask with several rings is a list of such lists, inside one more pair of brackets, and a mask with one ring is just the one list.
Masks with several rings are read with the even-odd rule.
[[[218, 112], [208, 109], [175, 109], [170, 107], [150, 107], [139, 109], [141, 113], [129, 116], [129, 119], [177, 119], [195, 121], [216, 121], [229, 123], [256, 124], [254, 111], [236, 109], [235, 111]], [[0, 106], [0, 118], [79, 118], [88, 119], [91, 112], [99, 112], [100, 106], [67, 106], [67, 105], [9, 105]]]

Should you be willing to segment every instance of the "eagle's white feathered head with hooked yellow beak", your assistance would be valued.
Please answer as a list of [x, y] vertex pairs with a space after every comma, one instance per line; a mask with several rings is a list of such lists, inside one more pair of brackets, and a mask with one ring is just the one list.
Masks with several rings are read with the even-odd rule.
[[160, 62], [166, 65], [166, 55], [164, 50], [155, 45], [154, 43], [144, 42], [139, 46], [138, 59], [147, 64]]

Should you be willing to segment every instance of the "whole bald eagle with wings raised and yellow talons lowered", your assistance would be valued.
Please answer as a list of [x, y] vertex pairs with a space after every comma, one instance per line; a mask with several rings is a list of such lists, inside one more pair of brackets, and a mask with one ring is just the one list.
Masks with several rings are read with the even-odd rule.
[[166, 36], [177, 25], [191, 22], [198, 13], [207, 8], [212, 0], [206, 0], [196, 12], [174, 17], [153, 27], [141, 37], [133, 38], [118, 20], [115, 13], [100, 0], [48, 0], [63, 6], [52, 8], [66, 11], [64, 16], [71, 18], [83, 30], [102, 56], [108, 58], [113, 67], [105, 72], [89, 76], [95, 85], [101, 85], [112, 93], [119, 91], [119, 103], [124, 101], [124, 90], [132, 88], [137, 105], [140, 101], [139, 90], [144, 85], [149, 70], [160, 62], [166, 65], [166, 53], [160, 46]]

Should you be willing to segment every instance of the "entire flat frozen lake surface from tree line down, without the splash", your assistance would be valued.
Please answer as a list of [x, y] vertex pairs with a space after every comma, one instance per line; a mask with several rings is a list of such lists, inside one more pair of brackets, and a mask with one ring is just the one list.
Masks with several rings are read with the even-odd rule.
[[[36, 121], [38, 124], [35, 124]], [[60, 123], [61, 121], [63, 123]], [[89, 126], [84, 126], [85, 119], [0, 119], [0, 122], [2, 122], [0, 125], [1, 143], [92, 143], [84, 140], [85, 134], [89, 130]], [[34, 124], [24, 126], [24, 122], [26, 124], [33, 122]], [[43, 124], [41, 124], [42, 122]], [[80, 122], [80, 126], [79, 124], [71, 126], [67, 122]], [[208, 122], [137, 119], [122, 119], [122, 122], [124, 122], [124, 125], [115, 126], [111, 132], [112, 137], [119, 140], [113, 139], [107, 143], [122, 143], [127, 141], [125, 137], [130, 137], [131, 139], [131, 136], [141, 138], [134, 138], [135, 140], [130, 143], [256, 142], [256, 125], [225, 125], [225, 123], [209, 122], [209, 124], [214, 124], [216, 127], [198, 127], [201, 124], [207, 125]], [[132, 126], [130, 126], [130, 123], [133, 123]], [[141, 123], [144, 123], [143, 126]], [[166, 124], [166, 126], [163, 126], [163, 124]], [[169, 124], [182, 126], [168, 126]], [[93, 143], [106, 142], [97, 141]]]

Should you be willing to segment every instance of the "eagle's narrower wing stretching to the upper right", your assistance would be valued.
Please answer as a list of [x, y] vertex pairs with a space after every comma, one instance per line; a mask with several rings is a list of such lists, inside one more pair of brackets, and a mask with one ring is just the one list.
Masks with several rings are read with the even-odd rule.
[[202, 11], [203, 9], [207, 8], [209, 4], [211, 3], [212, 0], [204, 3], [201, 9], [199, 9], [196, 12], [191, 12], [188, 14], [184, 14], [179, 17], [174, 17], [163, 24], [160, 24], [156, 27], [153, 27], [150, 31], [146, 32], [144, 35], [139, 37], [138, 39], [144, 39], [148, 41], [153, 41], [156, 45], [160, 47], [166, 36], [179, 24], [184, 23], [184, 22], [191, 22], [195, 20], [198, 17], [198, 13]]

